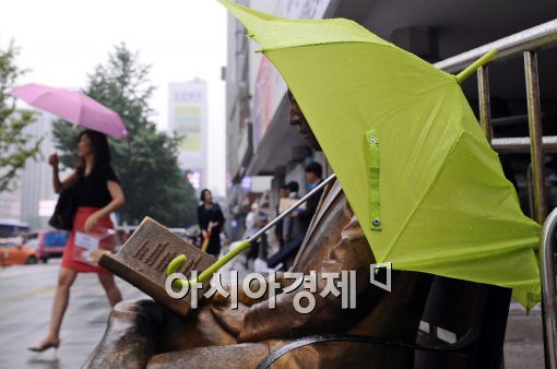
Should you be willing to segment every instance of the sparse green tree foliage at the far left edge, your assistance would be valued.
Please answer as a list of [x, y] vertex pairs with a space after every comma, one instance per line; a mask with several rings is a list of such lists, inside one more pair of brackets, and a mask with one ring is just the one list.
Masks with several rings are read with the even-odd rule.
[[39, 156], [42, 141], [26, 130], [35, 122], [36, 112], [16, 108], [15, 98], [9, 95], [17, 78], [25, 73], [15, 63], [17, 55], [13, 43], [7, 50], [0, 49], [0, 192], [13, 187], [28, 158]]

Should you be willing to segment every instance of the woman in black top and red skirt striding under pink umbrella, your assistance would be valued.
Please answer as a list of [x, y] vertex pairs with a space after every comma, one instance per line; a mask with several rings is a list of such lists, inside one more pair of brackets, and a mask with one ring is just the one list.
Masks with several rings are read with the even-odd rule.
[[68, 307], [70, 287], [78, 273], [97, 273], [112, 307], [122, 299], [112, 274], [102, 266], [73, 260], [75, 231], [90, 231], [95, 227], [112, 228], [114, 225], [108, 215], [123, 204], [122, 189], [110, 166], [110, 151], [106, 135], [92, 130], [81, 132], [78, 138], [78, 155], [80, 162], [75, 170], [63, 181], [60, 181], [58, 176], [58, 156], [54, 154], [48, 159], [54, 170], [56, 193], [71, 188], [78, 210], [58, 274], [50, 328], [38, 345], [28, 347], [33, 352], [44, 352], [50, 347], [58, 348], [60, 345], [60, 325]]

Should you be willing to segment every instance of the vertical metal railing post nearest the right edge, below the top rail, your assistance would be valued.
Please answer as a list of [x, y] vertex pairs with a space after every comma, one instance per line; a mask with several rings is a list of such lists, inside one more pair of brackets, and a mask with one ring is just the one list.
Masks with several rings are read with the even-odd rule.
[[547, 205], [545, 198], [537, 55], [535, 52], [524, 51], [524, 71], [526, 76], [528, 121], [531, 140], [530, 155], [532, 157], [532, 179], [534, 187], [534, 218], [542, 224], [547, 213]]

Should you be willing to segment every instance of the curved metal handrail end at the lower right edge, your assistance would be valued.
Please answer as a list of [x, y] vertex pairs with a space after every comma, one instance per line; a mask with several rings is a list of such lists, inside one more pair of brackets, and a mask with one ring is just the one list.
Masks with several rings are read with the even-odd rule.
[[545, 367], [557, 368], [557, 287], [554, 246], [557, 238], [557, 207], [547, 216], [542, 230], [540, 265], [542, 274], [542, 313], [544, 323]]

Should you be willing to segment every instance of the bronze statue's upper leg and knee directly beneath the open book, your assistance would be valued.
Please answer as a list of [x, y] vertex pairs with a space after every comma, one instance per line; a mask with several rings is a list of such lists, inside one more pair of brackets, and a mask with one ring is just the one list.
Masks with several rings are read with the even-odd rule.
[[145, 368], [157, 354], [236, 343], [210, 306], [180, 317], [153, 300], [122, 301], [110, 312], [105, 334], [84, 368]]

